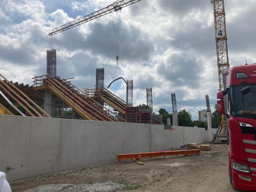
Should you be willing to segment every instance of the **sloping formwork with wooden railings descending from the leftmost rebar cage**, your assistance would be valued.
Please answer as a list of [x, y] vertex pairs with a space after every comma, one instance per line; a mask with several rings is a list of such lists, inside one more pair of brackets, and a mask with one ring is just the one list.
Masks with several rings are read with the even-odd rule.
[[86, 120], [101, 120], [101, 121], [122, 121], [121, 117], [116, 118], [115, 113], [106, 107], [100, 105], [93, 98], [75, 87], [69, 79], [57, 80], [50, 74], [43, 76], [35, 76], [35, 89], [49, 89], [54, 92], [60, 99], [68, 104], [73, 110], [80, 114]]

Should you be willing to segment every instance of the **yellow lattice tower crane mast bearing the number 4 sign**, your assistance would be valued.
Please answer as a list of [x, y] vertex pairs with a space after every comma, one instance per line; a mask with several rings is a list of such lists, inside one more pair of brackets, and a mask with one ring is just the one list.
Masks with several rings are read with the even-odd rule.
[[[229, 68], [224, 0], [211, 0], [211, 3], [213, 4], [214, 9], [214, 26], [219, 77], [219, 91], [222, 91], [224, 89], [224, 85], [221, 71], [224, 68]], [[223, 114], [221, 123], [224, 135], [226, 130], [226, 117]]]

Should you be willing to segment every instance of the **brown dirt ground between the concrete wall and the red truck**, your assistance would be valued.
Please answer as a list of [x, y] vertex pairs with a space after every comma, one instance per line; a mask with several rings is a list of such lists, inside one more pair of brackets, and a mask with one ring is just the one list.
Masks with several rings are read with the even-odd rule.
[[121, 162], [124, 165], [118, 165], [118, 162], [107, 163], [10, 185], [13, 192], [44, 184], [93, 184], [107, 181], [124, 184], [124, 191], [238, 191], [229, 182], [228, 146], [222, 144], [212, 147], [210, 151], [201, 151], [201, 156], [166, 157], [174, 160], [144, 158], [141, 159], [144, 165], [123, 160]]

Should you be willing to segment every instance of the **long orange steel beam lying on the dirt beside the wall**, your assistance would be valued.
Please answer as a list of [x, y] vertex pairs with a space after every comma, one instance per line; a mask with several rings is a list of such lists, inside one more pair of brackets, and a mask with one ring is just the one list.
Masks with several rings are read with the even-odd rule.
[[163, 152], [149, 152], [149, 153], [128, 153], [128, 154], [117, 154], [116, 159], [118, 161], [124, 159], [139, 159], [139, 158], [151, 158], [151, 157], [165, 157], [173, 155], [188, 155], [188, 154], [198, 154], [199, 149], [194, 150], [181, 150], [181, 151], [163, 151]]

